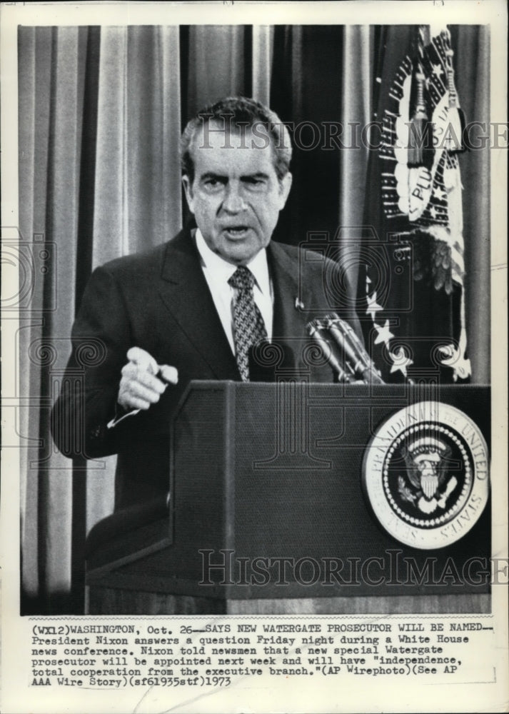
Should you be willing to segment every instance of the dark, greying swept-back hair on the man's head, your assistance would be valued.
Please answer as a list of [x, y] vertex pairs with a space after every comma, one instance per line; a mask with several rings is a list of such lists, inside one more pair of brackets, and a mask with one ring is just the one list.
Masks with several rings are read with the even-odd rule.
[[288, 173], [292, 153], [290, 134], [276, 112], [254, 99], [245, 96], [228, 96], [204, 107], [188, 121], [180, 142], [182, 176], [188, 176], [191, 182], [194, 180], [191, 144], [197, 131], [210, 121], [220, 121], [225, 129], [228, 126], [228, 129], [233, 130], [246, 129], [247, 126], [258, 124], [263, 126], [271, 140], [274, 169], [278, 179], [281, 181]]

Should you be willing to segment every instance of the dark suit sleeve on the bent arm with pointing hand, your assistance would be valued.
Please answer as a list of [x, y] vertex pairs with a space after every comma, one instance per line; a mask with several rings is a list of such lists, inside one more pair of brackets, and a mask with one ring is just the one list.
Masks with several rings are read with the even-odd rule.
[[113, 429], [106, 426], [115, 416], [121, 368], [132, 339], [116, 278], [106, 268], [97, 268], [73, 326], [71, 357], [51, 413], [53, 438], [65, 456], [117, 453], [136, 428], [134, 417]]

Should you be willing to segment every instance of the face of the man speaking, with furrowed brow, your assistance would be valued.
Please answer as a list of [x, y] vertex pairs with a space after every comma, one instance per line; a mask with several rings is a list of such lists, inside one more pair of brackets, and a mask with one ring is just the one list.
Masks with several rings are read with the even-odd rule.
[[242, 136], [213, 123], [210, 129], [206, 141], [200, 129], [191, 146], [193, 182], [183, 177], [188, 205], [208, 247], [228, 263], [245, 265], [271, 240], [291, 174], [278, 181], [265, 134], [261, 139], [246, 129]]

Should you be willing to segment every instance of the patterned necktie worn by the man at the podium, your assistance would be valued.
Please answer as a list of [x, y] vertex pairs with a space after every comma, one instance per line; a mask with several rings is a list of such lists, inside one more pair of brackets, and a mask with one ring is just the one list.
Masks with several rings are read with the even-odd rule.
[[249, 348], [267, 338], [265, 323], [254, 301], [254, 281], [253, 273], [246, 266], [239, 266], [228, 280], [228, 284], [238, 291], [233, 306], [233, 339], [243, 382], [249, 381]]

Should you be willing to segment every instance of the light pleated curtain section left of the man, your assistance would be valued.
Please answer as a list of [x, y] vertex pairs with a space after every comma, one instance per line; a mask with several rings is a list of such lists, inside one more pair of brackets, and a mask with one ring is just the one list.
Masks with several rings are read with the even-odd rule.
[[21, 452], [27, 612], [81, 610], [86, 533], [113, 510], [116, 457], [61, 456], [49, 405], [91, 270], [181, 226], [180, 85], [176, 27], [19, 31], [20, 229], [49, 248], [41, 317], [19, 333], [22, 393], [46, 400], [22, 414], [22, 433], [41, 441]]

